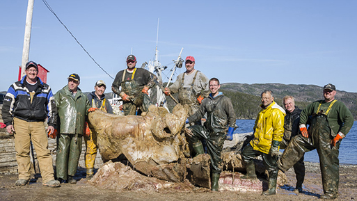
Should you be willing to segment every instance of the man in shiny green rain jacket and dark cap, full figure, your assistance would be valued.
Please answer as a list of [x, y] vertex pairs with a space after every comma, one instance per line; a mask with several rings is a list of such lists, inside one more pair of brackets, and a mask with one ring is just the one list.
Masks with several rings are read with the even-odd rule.
[[70, 184], [77, 183], [74, 175], [82, 150], [86, 115], [90, 108], [87, 96], [78, 88], [79, 82], [78, 74], [70, 74], [68, 85], [54, 96], [59, 115], [56, 175], [60, 182]]

